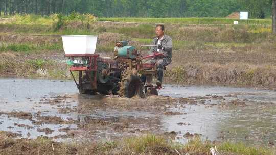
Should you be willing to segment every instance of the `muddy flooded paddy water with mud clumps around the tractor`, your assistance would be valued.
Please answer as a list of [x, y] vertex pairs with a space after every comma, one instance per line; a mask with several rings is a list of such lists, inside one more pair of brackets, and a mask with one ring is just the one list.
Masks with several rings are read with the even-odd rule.
[[[180, 99], [176, 104], [169, 104], [166, 98], [161, 103], [159, 98], [152, 97], [143, 100], [79, 95], [73, 81], [0, 79], [0, 83], [0, 112], [31, 112], [35, 121], [40, 120], [39, 116], [74, 120], [35, 125], [31, 120], [0, 115], [0, 131], [20, 133], [22, 137], [54, 137], [74, 133], [74, 140], [95, 140], [174, 131], [176, 135], [173, 136], [180, 142], [187, 141], [185, 134], [189, 132], [201, 134], [202, 139], [212, 141], [276, 143], [275, 91], [166, 85], [159, 94], [189, 99], [185, 103]], [[68, 97], [58, 100], [57, 96], [64, 94]], [[148, 102], [158, 101], [160, 106], [147, 105]], [[138, 104], [131, 105], [133, 102]], [[61, 111], [64, 109], [68, 111]], [[14, 123], [33, 128], [18, 127]], [[38, 128], [50, 128], [53, 132], [38, 132]]]

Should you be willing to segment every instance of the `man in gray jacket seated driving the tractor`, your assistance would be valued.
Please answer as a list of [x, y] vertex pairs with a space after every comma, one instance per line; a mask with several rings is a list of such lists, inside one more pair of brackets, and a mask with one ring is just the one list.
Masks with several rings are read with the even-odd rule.
[[153, 39], [152, 45], [158, 47], [151, 47], [150, 52], [161, 52], [165, 55], [164, 58], [156, 60], [157, 66], [157, 82], [156, 85], [160, 87], [163, 81], [164, 68], [172, 62], [172, 38], [165, 35], [164, 25], [157, 25], [155, 27], [156, 38]]

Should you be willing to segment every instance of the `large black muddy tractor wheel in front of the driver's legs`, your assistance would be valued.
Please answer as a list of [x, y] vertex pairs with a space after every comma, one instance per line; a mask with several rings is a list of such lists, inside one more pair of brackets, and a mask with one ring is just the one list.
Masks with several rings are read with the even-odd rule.
[[140, 77], [131, 75], [125, 85], [125, 97], [132, 98], [135, 95], [138, 95], [141, 98], [145, 98], [143, 83], [141, 82]]

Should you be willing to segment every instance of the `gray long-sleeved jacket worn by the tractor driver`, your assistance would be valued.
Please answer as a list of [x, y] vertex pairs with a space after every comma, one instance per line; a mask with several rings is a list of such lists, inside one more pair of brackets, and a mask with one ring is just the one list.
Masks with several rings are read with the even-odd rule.
[[[158, 38], [154, 38], [151, 45], [157, 45]], [[172, 59], [172, 38], [170, 36], [164, 35], [163, 39], [161, 40], [161, 45], [165, 49], [163, 50], [163, 54], [166, 55], [166, 58]], [[150, 52], [157, 51], [157, 47], [151, 47]]]

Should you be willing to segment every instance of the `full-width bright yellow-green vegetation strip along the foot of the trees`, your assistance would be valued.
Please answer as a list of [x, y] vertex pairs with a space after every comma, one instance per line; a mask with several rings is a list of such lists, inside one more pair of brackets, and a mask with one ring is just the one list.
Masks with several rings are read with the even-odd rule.
[[258, 24], [258, 25], [271, 25], [271, 19], [249, 19], [239, 20], [230, 18], [95, 18], [91, 14], [79, 14], [76, 12], [71, 13], [68, 16], [59, 16], [58, 14], [52, 14], [50, 16], [40, 15], [15, 15], [6, 18], [5, 23], [12, 22], [15, 24], [40, 24], [40, 25], [52, 25], [59, 18], [63, 18], [66, 21], [82, 21], [82, 22], [95, 22], [95, 21], [111, 21], [111, 22], [136, 22], [136, 23], [165, 23], [165, 24], [233, 24], [234, 21], [239, 21], [240, 24]]

